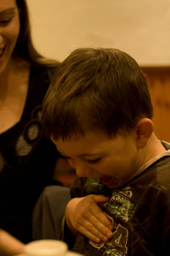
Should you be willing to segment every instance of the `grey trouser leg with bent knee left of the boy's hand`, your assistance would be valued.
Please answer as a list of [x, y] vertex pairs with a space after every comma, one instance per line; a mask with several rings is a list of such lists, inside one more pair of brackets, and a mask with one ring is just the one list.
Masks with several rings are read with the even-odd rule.
[[70, 189], [48, 186], [40, 195], [33, 212], [33, 240], [62, 239], [62, 220]]

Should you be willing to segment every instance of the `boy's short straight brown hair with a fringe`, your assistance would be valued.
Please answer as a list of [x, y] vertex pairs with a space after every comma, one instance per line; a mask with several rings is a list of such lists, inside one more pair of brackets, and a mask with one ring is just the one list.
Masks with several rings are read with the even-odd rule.
[[42, 126], [55, 140], [100, 129], [131, 132], [153, 116], [148, 84], [137, 62], [117, 49], [79, 48], [57, 69], [43, 102]]

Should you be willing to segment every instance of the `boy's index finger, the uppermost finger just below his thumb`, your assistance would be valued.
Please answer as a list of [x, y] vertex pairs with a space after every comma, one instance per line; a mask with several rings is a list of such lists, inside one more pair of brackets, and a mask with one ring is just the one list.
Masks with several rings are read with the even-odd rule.
[[[98, 205], [94, 205], [90, 208], [92, 214], [109, 230], [113, 230], [113, 224], [109, 220], [109, 218], [106, 216], [106, 214], [100, 209]], [[108, 232], [109, 232], [108, 230]], [[103, 233], [103, 232], [102, 232]]]

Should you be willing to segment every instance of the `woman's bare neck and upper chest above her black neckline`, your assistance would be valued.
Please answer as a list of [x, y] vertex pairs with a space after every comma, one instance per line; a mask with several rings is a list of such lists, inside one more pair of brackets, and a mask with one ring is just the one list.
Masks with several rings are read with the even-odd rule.
[[30, 64], [11, 59], [0, 74], [0, 134], [21, 120], [29, 87]]

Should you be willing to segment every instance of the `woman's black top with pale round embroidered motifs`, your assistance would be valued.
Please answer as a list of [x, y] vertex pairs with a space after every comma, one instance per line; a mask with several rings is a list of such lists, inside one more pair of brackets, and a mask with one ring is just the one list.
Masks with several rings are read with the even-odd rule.
[[21, 120], [0, 134], [0, 227], [25, 243], [31, 241], [31, 215], [38, 196], [45, 186], [55, 184], [59, 153], [40, 126], [42, 101], [55, 70], [31, 67]]

